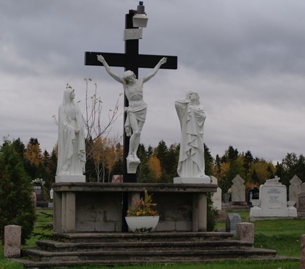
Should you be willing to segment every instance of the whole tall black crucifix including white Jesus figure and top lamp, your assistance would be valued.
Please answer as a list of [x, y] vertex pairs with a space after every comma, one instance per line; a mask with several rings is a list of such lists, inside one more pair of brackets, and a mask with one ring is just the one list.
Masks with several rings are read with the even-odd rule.
[[[147, 16], [144, 13], [143, 2], [139, 3], [137, 11], [130, 10], [125, 16], [125, 53], [85, 52], [85, 65], [104, 66], [106, 71], [123, 84], [124, 98], [124, 175], [123, 182], [136, 182], [136, 169], [140, 160], [136, 151], [140, 142], [140, 132], [145, 121], [146, 104], [143, 101], [143, 83], [153, 77], [159, 68], [177, 69], [177, 56], [139, 54], [139, 38], [142, 28], [134, 27], [133, 17], [140, 20], [146, 27]], [[135, 21], [134, 20], [134, 21]], [[144, 23], [141, 22], [144, 20]], [[131, 30], [133, 29], [133, 30]], [[118, 76], [110, 70], [110, 66], [124, 67], [123, 76]], [[138, 79], [139, 68], [154, 68], [144, 78]]]

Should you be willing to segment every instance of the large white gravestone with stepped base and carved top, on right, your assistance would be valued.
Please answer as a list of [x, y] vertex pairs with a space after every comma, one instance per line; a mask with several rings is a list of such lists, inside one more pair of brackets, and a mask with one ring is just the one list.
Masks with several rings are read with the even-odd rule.
[[259, 199], [255, 203], [253, 201], [254, 207], [250, 210], [250, 221], [297, 217], [296, 208], [293, 206], [294, 201], [289, 201], [287, 204], [286, 186], [279, 180], [280, 177], [276, 176], [259, 187]]

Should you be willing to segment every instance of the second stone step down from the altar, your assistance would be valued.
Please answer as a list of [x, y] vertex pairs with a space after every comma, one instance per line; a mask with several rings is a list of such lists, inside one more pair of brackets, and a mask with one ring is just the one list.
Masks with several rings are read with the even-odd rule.
[[52, 240], [36, 242], [40, 250], [55, 252], [93, 251], [93, 250], [216, 250], [216, 249], [249, 249], [253, 247], [251, 242], [220, 240], [220, 241], [178, 241], [178, 242], [115, 242], [115, 243], [66, 243]]

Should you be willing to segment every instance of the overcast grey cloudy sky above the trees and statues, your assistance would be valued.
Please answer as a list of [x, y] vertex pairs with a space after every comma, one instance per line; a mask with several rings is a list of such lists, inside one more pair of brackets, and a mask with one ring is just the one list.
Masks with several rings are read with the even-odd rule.
[[[0, 0], [0, 136], [42, 150], [57, 140], [52, 115], [70, 83], [84, 109], [84, 78], [98, 84], [107, 122], [121, 84], [103, 67], [84, 66], [85, 51], [124, 52], [125, 14], [135, 0]], [[174, 101], [197, 91], [212, 156], [239, 152], [281, 160], [305, 153], [305, 1], [147, 0], [140, 53], [178, 56], [177, 70], [145, 83], [141, 142], [179, 142]], [[119, 75], [123, 68], [113, 68]], [[140, 69], [139, 76], [151, 70]], [[123, 111], [123, 98], [119, 109]], [[123, 116], [113, 135], [123, 132]]]

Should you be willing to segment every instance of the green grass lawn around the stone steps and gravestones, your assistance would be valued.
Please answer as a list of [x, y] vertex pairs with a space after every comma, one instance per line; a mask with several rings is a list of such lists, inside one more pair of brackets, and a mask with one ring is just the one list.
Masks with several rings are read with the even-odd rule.
[[[51, 218], [46, 218], [43, 213], [51, 213], [51, 210], [38, 210], [35, 224], [35, 232], [40, 232], [39, 226], [52, 222]], [[227, 212], [238, 213], [242, 221], [246, 221], [249, 212]], [[300, 256], [300, 235], [305, 233], [305, 220], [264, 220], [256, 221], [255, 224], [255, 247], [265, 249], [275, 249], [279, 256]], [[217, 228], [225, 228], [225, 222], [217, 223]], [[49, 234], [51, 232], [48, 232]], [[35, 247], [37, 238], [31, 237], [27, 241], [25, 248]], [[75, 269], [95, 269], [103, 266], [81, 266]], [[0, 245], [0, 269], [21, 269], [22, 265], [12, 262], [3, 256], [3, 246]], [[106, 267], [105, 267], [106, 268]], [[296, 269], [299, 268], [299, 261], [293, 260], [271, 260], [271, 261], [218, 261], [210, 263], [186, 263], [186, 264], [147, 264], [139, 266], [114, 266], [116, 269]]]

